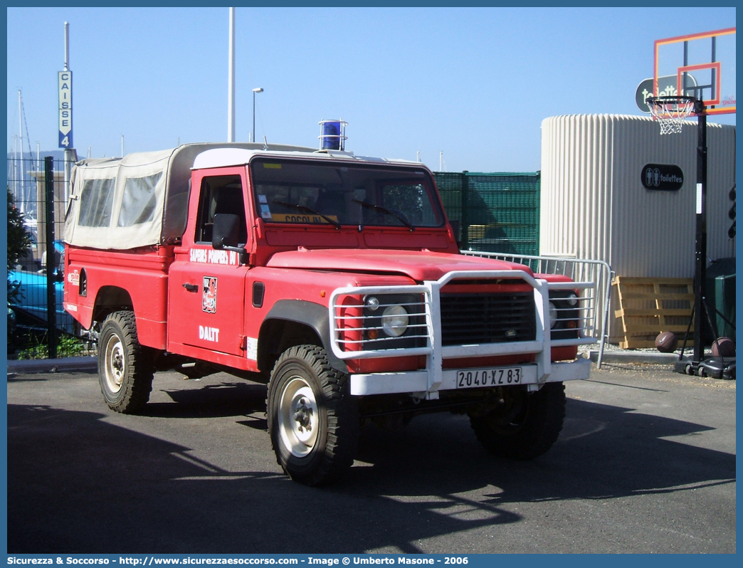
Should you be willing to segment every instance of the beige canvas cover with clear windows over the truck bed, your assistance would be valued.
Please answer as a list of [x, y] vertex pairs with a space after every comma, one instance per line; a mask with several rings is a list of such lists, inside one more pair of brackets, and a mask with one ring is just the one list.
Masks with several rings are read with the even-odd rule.
[[78, 247], [115, 250], [178, 242], [188, 219], [194, 158], [215, 148], [314, 151], [283, 144], [198, 143], [82, 160], [72, 170], [62, 239]]

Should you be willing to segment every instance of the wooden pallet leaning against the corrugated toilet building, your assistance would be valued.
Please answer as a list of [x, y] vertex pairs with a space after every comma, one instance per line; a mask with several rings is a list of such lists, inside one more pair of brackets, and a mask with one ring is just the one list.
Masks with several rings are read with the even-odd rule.
[[[679, 344], [689, 326], [694, 306], [691, 278], [616, 277], [619, 309], [615, 310], [619, 346], [622, 349], [655, 347], [661, 332], [678, 335]], [[689, 329], [687, 346], [693, 346], [694, 326]]]

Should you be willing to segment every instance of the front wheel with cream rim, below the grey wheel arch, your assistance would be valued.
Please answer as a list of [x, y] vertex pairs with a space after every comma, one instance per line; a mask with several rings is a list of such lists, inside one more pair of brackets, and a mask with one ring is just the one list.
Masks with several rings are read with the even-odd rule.
[[282, 353], [268, 383], [267, 415], [273, 451], [291, 479], [321, 485], [353, 464], [358, 410], [348, 375], [330, 366], [322, 347]]

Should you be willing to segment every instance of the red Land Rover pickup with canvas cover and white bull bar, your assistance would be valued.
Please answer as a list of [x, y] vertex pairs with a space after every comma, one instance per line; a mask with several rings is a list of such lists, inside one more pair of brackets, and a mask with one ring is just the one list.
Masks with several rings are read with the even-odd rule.
[[[459, 253], [422, 164], [299, 146], [187, 144], [84, 160], [65, 224], [65, 309], [99, 330], [111, 409], [154, 372], [267, 382], [279, 464], [309, 485], [366, 420], [470, 416], [491, 452], [557, 440], [590, 283]], [[184, 366], [185, 365], [185, 366]]]

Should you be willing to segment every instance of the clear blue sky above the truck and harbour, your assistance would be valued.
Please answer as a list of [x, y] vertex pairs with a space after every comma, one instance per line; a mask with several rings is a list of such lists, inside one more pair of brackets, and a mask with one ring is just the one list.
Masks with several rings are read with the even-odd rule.
[[[64, 22], [80, 157], [227, 140], [227, 8], [7, 8], [10, 152], [19, 89], [32, 151], [57, 149]], [[259, 140], [317, 146], [342, 117], [358, 155], [539, 170], [544, 118], [642, 114], [655, 39], [735, 25], [732, 7], [237, 8], [236, 138], [262, 87]]]

